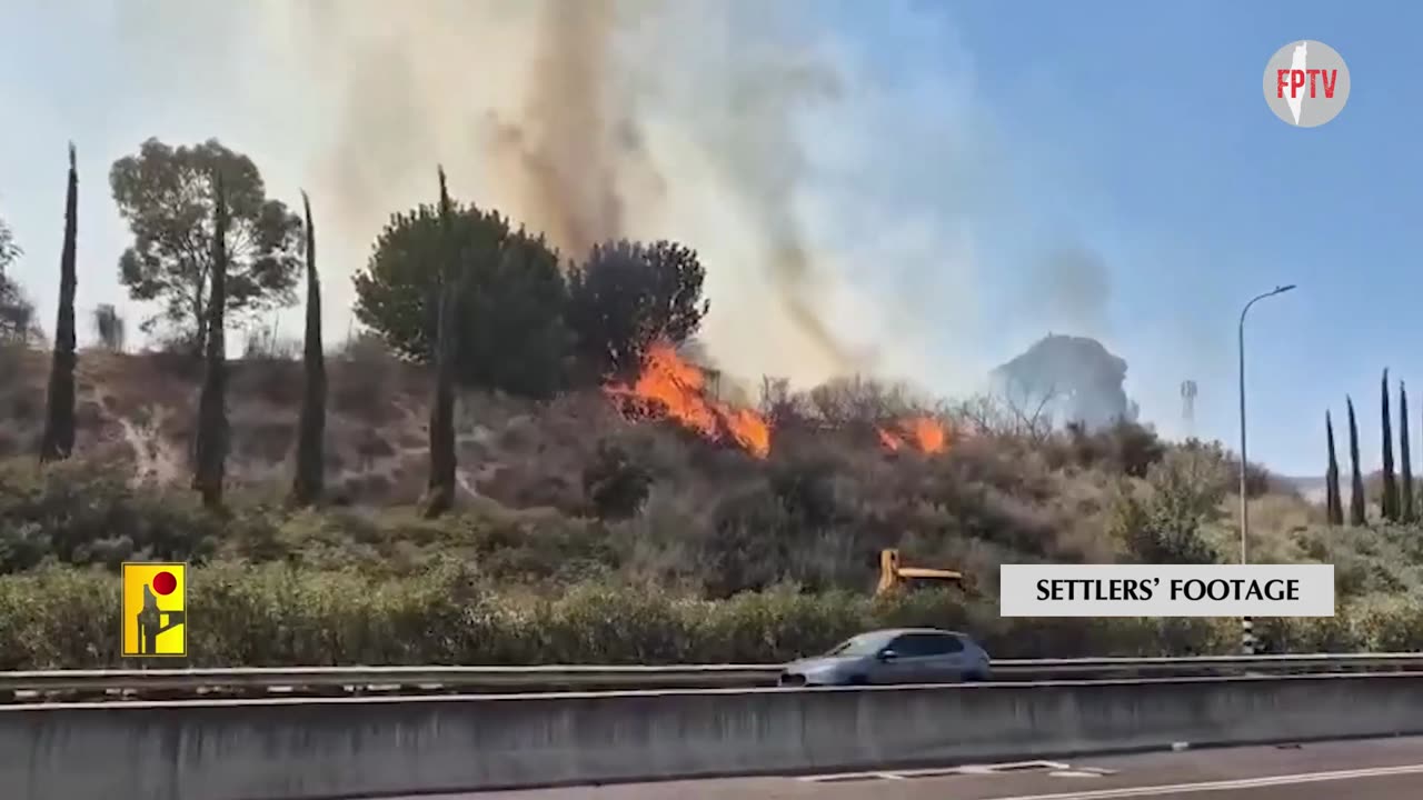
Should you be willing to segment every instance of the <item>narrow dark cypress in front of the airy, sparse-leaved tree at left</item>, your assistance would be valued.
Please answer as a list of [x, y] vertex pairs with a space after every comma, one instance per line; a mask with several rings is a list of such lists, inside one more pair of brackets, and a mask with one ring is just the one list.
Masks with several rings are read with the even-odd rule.
[[212, 290], [208, 295], [206, 374], [198, 400], [196, 471], [192, 488], [202, 493], [208, 508], [222, 507], [222, 481], [228, 458], [228, 196], [222, 174], [213, 174], [216, 204], [212, 235]]

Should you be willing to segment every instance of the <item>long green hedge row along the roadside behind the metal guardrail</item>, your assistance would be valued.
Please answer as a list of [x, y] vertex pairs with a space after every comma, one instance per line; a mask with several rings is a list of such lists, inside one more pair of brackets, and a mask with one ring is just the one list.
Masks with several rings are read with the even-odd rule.
[[[933, 625], [969, 631], [996, 658], [1229, 653], [1234, 619], [1002, 619], [939, 592], [743, 594], [709, 602], [655, 589], [582, 585], [556, 598], [491, 591], [458, 567], [418, 579], [286, 565], [192, 571], [188, 666], [750, 663], [822, 652], [855, 632]], [[1329, 619], [1261, 619], [1276, 651], [1419, 651], [1423, 605], [1368, 598]], [[164, 659], [179, 666], [178, 659]], [[115, 666], [120, 582], [51, 568], [0, 578], [0, 669]]]

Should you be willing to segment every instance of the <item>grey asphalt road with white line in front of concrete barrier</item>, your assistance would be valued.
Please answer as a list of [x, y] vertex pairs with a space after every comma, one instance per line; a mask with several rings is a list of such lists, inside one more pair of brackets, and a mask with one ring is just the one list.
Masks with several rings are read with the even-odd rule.
[[[924, 774], [928, 773], [928, 774]], [[1423, 737], [921, 770], [423, 796], [418, 800], [1419, 800]], [[416, 799], [410, 799], [416, 800]]]

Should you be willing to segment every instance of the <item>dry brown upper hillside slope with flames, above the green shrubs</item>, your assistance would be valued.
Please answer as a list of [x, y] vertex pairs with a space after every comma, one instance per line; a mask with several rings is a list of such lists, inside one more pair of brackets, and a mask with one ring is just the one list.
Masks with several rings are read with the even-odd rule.
[[[4, 353], [20, 380], [0, 390], [10, 417], [0, 456], [21, 456], [38, 436], [48, 359]], [[239, 497], [276, 497], [290, 474], [300, 364], [270, 356], [231, 369], [229, 475]], [[332, 504], [401, 512], [425, 483], [428, 373], [373, 339], [330, 354], [329, 373]], [[85, 350], [77, 453], [121, 465], [132, 485], [182, 491], [199, 374], [182, 356]], [[465, 515], [534, 514], [588, 537], [622, 534], [636, 541], [608, 567], [703, 589], [783, 578], [861, 589], [882, 547], [990, 584], [1005, 559], [1130, 558], [1131, 544], [1111, 532], [1131, 511], [1123, 502], [1184, 453], [1210, 465], [1192, 467], [1190, 491], [1220, 505], [1200, 511], [1202, 535], [1228, 538], [1232, 467], [1218, 447], [1181, 451], [1134, 424], [1050, 433], [986, 399], [945, 406], [859, 379], [798, 394], [768, 384], [758, 404], [737, 404], [719, 399], [734, 393], [717, 377], [663, 349], [628, 384], [546, 403], [461, 393]], [[1289, 551], [1288, 534], [1315, 511], [1279, 494], [1264, 498], [1259, 517], [1261, 535]], [[709, 574], [716, 564], [726, 574]]]

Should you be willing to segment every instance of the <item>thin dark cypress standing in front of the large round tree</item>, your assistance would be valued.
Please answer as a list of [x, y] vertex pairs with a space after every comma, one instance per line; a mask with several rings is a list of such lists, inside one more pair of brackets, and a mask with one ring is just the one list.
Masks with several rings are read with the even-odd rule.
[[438, 517], [454, 505], [454, 315], [451, 280], [458, 260], [453, 236], [453, 209], [445, 189], [444, 167], [440, 168], [441, 260], [435, 312], [435, 374], [430, 401], [430, 484], [425, 517]]

